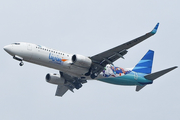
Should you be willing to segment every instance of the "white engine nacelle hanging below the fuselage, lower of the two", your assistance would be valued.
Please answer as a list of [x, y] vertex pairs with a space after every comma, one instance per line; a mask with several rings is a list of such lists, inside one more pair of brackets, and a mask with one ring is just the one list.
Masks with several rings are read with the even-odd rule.
[[46, 75], [46, 81], [48, 83], [56, 84], [56, 85], [64, 85], [65, 84], [65, 79], [61, 77], [60, 74], [53, 74], [53, 73], [48, 73]]

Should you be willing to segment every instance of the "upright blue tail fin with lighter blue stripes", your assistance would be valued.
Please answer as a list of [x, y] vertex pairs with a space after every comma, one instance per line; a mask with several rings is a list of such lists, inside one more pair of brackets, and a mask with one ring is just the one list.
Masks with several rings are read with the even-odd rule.
[[149, 50], [132, 71], [150, 74], [152, 70], [154, 51]]

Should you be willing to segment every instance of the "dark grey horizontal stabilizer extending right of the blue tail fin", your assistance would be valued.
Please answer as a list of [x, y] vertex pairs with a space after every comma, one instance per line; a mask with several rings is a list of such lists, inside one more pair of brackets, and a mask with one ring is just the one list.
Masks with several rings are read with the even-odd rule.
[[156, 78], [170, 72], [171, 70], [174, 70], [175, 68], [177, 68], [177, 66], [175, 67], [171, 67], [171, 68], [168, 68], [168, 69], [165, 69], [165, 70], [161, 70], [159, 72], [155, 72], [155, 73], [152, 73], [152, 74], [149, 74], [149, 75], [146, 75], [144, 76], [146, 79], [148, 80], [155, 80]]

